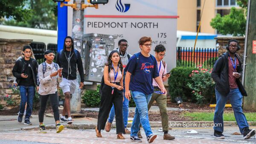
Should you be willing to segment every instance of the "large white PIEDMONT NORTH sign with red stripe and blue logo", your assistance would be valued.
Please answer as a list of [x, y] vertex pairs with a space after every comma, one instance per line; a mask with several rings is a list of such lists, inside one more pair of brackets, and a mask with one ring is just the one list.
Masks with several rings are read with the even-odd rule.
[[167, 71], [176, 66], [177, 0], [109, 0], [99, 9], [84, 10], [84, 34], [116, 35], [128, 40], [128, 52], [140, 52], [139, 39], [152, 38], [151, 54], [157, 44], [166, 46]]

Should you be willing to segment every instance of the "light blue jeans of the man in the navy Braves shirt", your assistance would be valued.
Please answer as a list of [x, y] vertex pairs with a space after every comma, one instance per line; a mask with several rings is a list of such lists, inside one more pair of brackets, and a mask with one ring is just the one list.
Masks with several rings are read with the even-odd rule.
[[132, 98], [136, 104], [134, 119], [131, 126], [131, 136], [137, 136], [140, 130], [140, 123], [145, 131], [146, 136], [151, 135], [151, 127], [148, 120], [148, 103], [152, 94], [145, 95], [142, 92], [132, 92]]

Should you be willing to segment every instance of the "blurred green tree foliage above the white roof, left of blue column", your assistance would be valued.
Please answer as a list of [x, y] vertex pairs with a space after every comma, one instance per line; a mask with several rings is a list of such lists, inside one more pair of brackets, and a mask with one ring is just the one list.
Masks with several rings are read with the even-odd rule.
[[1, 23], [37, 29], [57, 29], [56, 3], [52, 0], [26, 0], [26, 3], [31, 11], [31, 15], [26, 20], [5, 19]]

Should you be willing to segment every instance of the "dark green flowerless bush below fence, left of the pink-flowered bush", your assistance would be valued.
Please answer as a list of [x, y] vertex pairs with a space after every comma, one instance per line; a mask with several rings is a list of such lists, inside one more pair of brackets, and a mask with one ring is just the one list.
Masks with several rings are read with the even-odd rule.
[[178, 96], [180, 96], [183, 101], [187, 101], [188, 99], [195, 101], [195, 98], [192, 97], [191, 89], [187, 86], [187, 83], [192, 81], [192, 78], [189, 77], [192, 70], [195, 70], [195, 68], [176, 67], [171, 70], [172, 74], [168, 79], [168, 84], [169, 94], [173, 102]]

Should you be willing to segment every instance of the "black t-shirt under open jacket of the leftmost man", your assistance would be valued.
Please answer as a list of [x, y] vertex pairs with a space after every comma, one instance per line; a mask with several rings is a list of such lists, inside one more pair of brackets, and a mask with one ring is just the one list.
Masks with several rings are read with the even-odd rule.
[[25, 60], [25, 69], [23, 73], [27, 74], [28, 77], [20, 78], [20, 86], [35, 86], [33, 73], [29, 62], [29, 60]]

